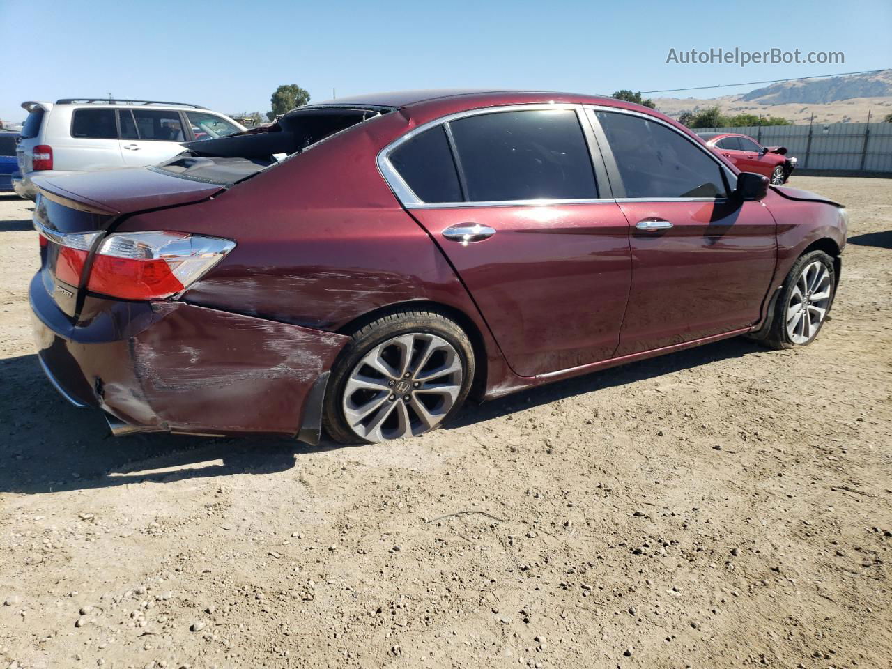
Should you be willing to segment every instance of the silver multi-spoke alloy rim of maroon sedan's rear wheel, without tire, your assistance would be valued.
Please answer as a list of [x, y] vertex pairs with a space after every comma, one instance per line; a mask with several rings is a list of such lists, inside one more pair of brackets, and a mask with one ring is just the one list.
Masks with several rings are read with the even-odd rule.
[[393, 337], [351, 370], [343, 389], [343, 417], [368, 442], [424, 434], [455, 406], [463, 377], [458, 351], [442, 337]]

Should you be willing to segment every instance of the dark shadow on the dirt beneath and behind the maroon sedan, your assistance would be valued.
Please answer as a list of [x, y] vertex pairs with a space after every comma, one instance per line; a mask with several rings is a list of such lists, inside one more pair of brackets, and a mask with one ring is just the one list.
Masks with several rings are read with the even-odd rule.
[[[763, 350], [735, 338], [469, 404], [445, 429], [475, 425], [585, 392], [662, 376]], [[323, 440], [310, 446], [287, 437], [209, 438], [132, 434], [115, 438], [99, 411], [77, 409], [43, 376], [36, 355], [0, 359], [0, 492], [41, 494], [127, 483], [170, 483], [234, 474], [274, 474], [314, 452], [345, 447]]]

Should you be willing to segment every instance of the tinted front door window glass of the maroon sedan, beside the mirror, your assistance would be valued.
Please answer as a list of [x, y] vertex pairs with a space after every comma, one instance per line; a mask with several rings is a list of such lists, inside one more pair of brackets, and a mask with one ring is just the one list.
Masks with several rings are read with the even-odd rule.
[[626, 197], [724, 197], [721, 169], [690, 139], [652, 120], [598, 111]]

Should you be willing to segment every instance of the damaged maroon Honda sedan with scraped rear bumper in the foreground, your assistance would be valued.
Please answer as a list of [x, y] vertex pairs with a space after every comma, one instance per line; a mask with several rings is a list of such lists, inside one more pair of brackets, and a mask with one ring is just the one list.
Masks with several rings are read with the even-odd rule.
[[804, 345], [846, 244], [841, 205], [615, 99], [368, 95], [187, 147], [39, 183], [40, 364], [115, 434], [379, 442], [469, 395]]

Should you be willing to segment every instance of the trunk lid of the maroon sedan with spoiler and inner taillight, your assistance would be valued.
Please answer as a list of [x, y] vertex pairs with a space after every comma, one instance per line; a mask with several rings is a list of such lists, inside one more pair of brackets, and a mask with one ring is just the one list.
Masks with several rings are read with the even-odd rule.
[[34, 227], [41, 233], [46, 292], [72, 320], [85, 293], [90, 258], [121, 216], [201, 202], [224, 190], [151, 169], [116, 169], [72, 177], [37, 177]]

